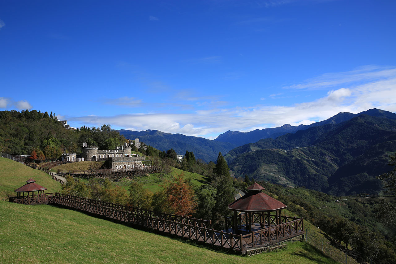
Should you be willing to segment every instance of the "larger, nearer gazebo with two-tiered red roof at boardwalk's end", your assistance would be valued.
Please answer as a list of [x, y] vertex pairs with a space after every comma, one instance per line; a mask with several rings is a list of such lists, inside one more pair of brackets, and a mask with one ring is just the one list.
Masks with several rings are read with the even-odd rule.
[[[251, 232], [282, 223], [281, 210], [287, 206], [262, 193], [263, 189], [263, 186], [254, 183], [247, 188], [246, 195], [228, 205], [228, 209], [234, 211], [232, 229], [235, 233]], [[275, 212], [275, 215], [271, 215], [271, 212]]]

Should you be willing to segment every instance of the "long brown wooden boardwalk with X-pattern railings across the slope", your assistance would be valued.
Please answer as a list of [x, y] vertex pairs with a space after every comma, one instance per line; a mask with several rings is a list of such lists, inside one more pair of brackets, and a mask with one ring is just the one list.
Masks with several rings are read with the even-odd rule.
[[211, 228], [211, 221], [208, 220], [125, 207], [61, 193], [52, 195], [48, 199], [48, 203], [97, 214], [121, 222], [137, 224], [153, 230], [231, 249], [241, 254], [245, 254], [249, 249], [268, 247], [303, 234], [302, 218], [242, 235], [214, 230]]

